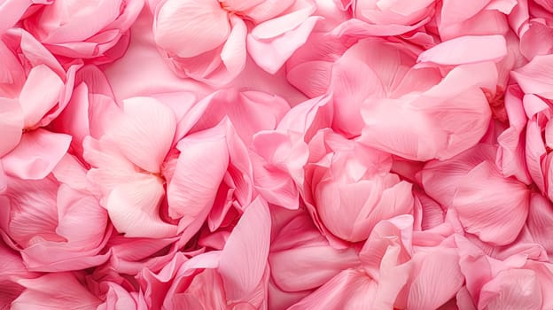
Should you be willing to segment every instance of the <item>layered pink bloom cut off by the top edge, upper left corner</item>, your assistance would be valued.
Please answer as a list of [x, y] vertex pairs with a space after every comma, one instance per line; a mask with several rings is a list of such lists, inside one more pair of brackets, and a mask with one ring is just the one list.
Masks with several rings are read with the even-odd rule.
[[46, 1], [22, 23], [59, 58], [102, 64], [124, 54], [143, 6], [144, 0]]

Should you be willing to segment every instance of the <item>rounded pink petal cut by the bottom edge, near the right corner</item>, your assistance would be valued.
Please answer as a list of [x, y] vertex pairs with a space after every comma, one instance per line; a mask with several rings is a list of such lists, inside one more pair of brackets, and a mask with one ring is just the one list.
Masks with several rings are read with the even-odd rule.
[[479, 309], [539, 310], [542, 293], [536, 274], [527, 269], [500, 272], [480, 291]]

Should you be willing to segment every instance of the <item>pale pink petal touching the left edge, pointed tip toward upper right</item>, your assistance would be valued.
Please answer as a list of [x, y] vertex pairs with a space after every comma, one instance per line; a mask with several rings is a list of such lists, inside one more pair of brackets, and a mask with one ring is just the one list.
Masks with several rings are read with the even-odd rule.
[[71, 136], [42, 128], [21, 137], [18, 146], [4, 156], [4, 171], [22, 179], [42, 179], [58, 165], [71, 143]]

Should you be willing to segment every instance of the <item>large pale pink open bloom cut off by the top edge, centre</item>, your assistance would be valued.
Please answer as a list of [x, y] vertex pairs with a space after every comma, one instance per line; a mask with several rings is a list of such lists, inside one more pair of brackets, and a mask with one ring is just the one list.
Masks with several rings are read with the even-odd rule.
[[213, 84], [237, 77], [247, 55], [276, 73], [317, 21], [311, 0], [153, 3], [154, 39], [175, 73]]

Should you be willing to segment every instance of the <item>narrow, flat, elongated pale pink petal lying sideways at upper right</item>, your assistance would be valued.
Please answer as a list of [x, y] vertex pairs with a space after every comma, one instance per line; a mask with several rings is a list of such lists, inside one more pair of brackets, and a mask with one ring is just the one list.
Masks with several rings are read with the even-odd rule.
[[[507, 54], [502, 35], [465, 35], [424, 50], [417, 62], [440, 65], [462, 65], [481, 61], [497, 61]], [[478, 51], [477, 51], [478, 50]]]

